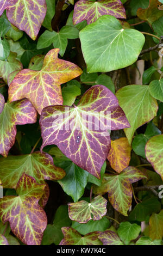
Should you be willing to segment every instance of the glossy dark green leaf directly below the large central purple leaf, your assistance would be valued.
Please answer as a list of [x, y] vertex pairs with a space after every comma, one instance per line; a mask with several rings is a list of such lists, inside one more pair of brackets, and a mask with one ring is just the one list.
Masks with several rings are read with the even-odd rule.
[[65, 193], [77, 202], [84, 194], [89, 173], [71, 161], [62, 162], [59, 166], [65, 170], [66, 176], [58, 182]]

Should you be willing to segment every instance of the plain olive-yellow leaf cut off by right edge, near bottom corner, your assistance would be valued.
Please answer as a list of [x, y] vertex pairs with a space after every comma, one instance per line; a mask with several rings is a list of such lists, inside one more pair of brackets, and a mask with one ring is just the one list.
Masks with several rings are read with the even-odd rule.
[[159, 214], [153, 213], [149, 218], [149, 236], [154, 239], [162, 239], [163, 236], [163, 210]]

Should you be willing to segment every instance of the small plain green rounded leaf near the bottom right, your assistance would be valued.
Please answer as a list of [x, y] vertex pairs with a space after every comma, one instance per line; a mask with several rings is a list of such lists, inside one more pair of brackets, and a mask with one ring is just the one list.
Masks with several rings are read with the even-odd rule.
[[118, 235], [121, 240], [128, 245], [131, 240], [134, 240], [139, 236], [141, 232], [141, 227], [137, 224], [131, 224], [130, 222], [121, 222], [118, 228]]

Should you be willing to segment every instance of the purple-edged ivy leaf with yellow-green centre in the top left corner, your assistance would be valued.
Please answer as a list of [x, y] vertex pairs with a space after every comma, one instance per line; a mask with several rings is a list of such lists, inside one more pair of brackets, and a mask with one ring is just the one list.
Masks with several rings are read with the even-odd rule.
[[5, 9], [8, 20], [35, 40], [46, 15], [46, 1], [1, 0], [0, 16]]

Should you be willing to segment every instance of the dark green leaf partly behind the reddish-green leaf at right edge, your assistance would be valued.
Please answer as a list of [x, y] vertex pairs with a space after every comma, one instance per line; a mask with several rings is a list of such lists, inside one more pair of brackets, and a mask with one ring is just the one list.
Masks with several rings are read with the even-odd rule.
[[151, 137], [153, 137], [155, 135], [159, 135], [159, 134], [161, 134], [161, 131], [158, 129], [158, 127], [156, 127], [152, 122], [149, 122], [145, 133], [144, 134], [141, 133], [134, 137], [133, 143], [132, 143], [132, 148], [133, 148], [134, 152], [137, 155], [146, 158], [145, 146], [146, 146], [147, 141]]

